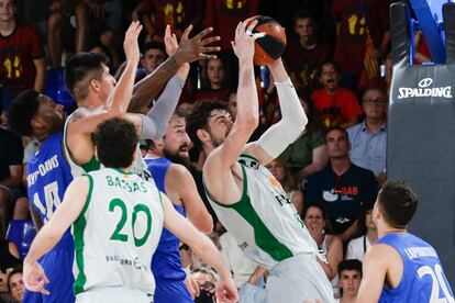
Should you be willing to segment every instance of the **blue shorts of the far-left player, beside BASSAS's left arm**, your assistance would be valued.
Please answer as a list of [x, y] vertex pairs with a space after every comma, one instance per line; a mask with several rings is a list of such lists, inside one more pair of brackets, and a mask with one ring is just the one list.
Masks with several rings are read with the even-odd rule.
[[38, 292], [25, 291], [24, 303], [74, 303], [75, 295], [73, 284], [73, 258], [75, 251], [73, 245], [55, 247], [41, 258], [40, 263], [46, 273], [49, 283], [45, 289], [51, 292], [48, 295]]

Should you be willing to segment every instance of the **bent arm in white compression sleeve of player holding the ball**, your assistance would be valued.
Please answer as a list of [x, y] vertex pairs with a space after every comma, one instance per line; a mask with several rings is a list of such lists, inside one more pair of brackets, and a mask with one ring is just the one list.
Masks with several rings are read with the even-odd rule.
[[257, 142], [249, 144], [245, 150], [260, 164], [266, 165], [278, 157], [295, 142], [308, 123], [296, 89], [286, 72], [281, 58], [268, 66], [277, 87], [281, 120], [271, 125]]

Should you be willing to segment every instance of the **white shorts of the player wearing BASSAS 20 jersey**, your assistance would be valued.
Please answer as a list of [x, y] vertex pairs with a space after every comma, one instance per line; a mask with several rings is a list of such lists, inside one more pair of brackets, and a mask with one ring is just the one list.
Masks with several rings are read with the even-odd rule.
[[76, 295], [76, 303], [151, 303], [153, 298], [137, 289], [97, 288]]

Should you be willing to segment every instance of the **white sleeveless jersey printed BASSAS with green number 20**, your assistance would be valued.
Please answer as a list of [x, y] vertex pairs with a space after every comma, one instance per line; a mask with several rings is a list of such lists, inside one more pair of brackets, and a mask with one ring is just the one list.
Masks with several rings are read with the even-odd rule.
[[87, 176], [87, 201], [73, 225], [75, 293], [126, 287], [153, 294], [151, 262], [164, 221], [160, 193], [141, 177], [112, 168]]

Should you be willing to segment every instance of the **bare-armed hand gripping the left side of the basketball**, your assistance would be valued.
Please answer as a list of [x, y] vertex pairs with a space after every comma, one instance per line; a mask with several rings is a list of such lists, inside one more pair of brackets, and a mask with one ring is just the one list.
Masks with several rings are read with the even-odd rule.
[[235, 41], [231, 42], [232, 48], [234, 48], [234, 53], [238, 60], [253, 61], [254, 41], [266, 35], [265, 33], [253, 34], [253, 30], [257, 25], [257, 20], [251, 23], [249, 21], [251, 18], [238, 23], [235, 29]]

